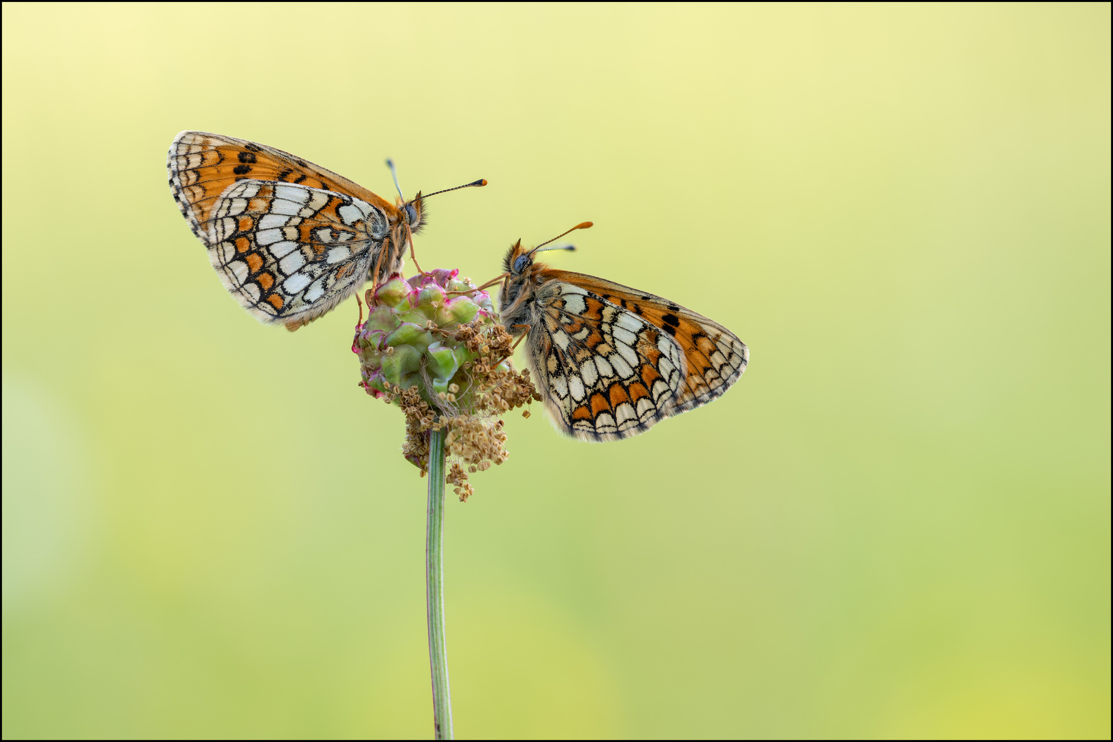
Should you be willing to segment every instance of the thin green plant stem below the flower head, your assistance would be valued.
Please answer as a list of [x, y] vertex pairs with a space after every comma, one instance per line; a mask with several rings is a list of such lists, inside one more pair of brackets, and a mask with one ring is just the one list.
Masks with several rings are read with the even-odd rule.
[[434, 739], [452, 739], [449, 652], [444, 641], [444, 436], [429, 434], [429, 511], [425, 525], [425, 612], [429, 619], [429, 667], [433, 682]]

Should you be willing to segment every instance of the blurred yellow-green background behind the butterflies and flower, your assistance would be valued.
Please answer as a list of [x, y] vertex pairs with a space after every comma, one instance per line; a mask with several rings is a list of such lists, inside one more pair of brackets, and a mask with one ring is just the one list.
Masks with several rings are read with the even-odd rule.
[[[183, 129], [733, 329], [450, 503], [459, 736], [1110, 735], [1110, 6], [3, 6], [3, 736], [430, 736], [354, 301], [230, 299]], [[534, 409], [540, 412], [540, 408]]]

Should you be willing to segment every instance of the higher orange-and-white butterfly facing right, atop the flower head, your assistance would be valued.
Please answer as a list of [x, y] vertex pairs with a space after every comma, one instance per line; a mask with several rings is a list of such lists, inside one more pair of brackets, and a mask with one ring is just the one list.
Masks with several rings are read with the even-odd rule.
[[224, 287], [259, 320], [289, 330], [365, 281], [401, 273], [406, 247], [416, 266], [413, 235], [427, 221], [424, 199], [436, 195], [418, 191], [406, 201], [400, 189], [392, 205], [289, 152], [207, 131], [175, 137], [166, 169]]

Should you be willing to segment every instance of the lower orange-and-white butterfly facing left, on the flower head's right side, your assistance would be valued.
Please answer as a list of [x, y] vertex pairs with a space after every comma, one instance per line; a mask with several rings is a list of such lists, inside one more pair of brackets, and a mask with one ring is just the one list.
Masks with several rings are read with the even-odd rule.
[[749, 349], [722, 325], [660, 296], [534, 263], [544, 245], [511, 246], [499, 311], [525, 338], [534, 385], [563, 433], [581, 441], [643, 433], [720, 396], [746, 370]]

